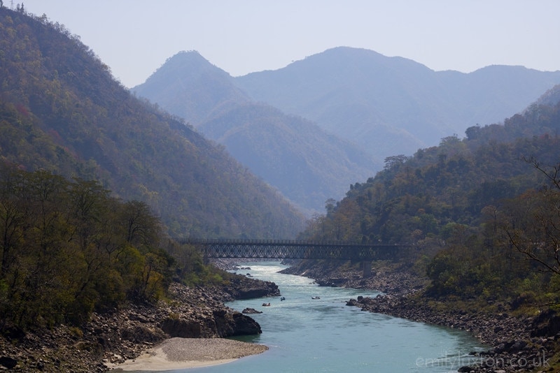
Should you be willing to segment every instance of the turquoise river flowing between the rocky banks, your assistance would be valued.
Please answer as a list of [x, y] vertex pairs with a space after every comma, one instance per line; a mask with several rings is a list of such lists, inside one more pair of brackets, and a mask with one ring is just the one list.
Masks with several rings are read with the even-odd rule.
[[[174, 372], [456, 372], [473, 363], [470, 351], [484, 346], [468, 333], [383, 314], [362, 312], [345, 303], [375, 291], [317, 286], [306, 277], [283, 275], [279, 262], [244, 263], [257, 279], [274, 281], [286, 300], [236, 300], [227, 305], [262, 314], [262, 334], [236, 338], [269, 346], [269, 351], [233, 363]], [[311, 299], [319, 297], [320, 299]], [[270, 302], [269, 307], [262, 307]]]

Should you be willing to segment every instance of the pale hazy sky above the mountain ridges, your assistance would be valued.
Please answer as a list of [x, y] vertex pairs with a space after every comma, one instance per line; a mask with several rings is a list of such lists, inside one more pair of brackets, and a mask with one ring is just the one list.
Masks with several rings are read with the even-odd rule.
[[[10, 0], [4, 0], [10, 6]], [[20, 0], [13, 0], [15, 8]], [[181, 50], [233, 76], [341, 45], [435, 71], [560, 70], [559, 0], [24, 0], [80, 36], [127, 87]]]

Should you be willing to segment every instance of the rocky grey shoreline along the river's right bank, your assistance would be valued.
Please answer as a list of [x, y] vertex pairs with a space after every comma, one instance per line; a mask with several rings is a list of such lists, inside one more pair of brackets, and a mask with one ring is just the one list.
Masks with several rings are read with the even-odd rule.
[[[325, 268], [325, 266], [327, 266]], [[556, 372], [554, 354], [560, 347], [560, 316], [546, 310], [536, 316], [518, 316], [510, 305], [496, 304], [495, 312], [480, 312], [469, 302], [430, 300], [424, 295], [427, 281], [402, 265], [386, 263], [372, 277], [363, 279], [359, 270], [335, 269], [328, 263], [300, 263], [284, 270], [314, 279], [323, 286], [368, 288], [381, 291], [376, 298], [347, 302], [366, 312], [388, 314], [470, 332], [486, 351], [472, 351], [479, 363], [458, 372]]]

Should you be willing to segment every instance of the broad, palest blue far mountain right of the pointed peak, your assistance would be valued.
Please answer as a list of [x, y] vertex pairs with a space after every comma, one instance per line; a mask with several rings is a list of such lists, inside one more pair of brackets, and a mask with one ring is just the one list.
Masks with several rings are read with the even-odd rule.
[[560, 71], [436, 72], [402, 57], [336, 47], [235, 82], [255, 101], [314, 121], [384, 159], [437, 145], [473, 124], [500, 122], [558, 84]]

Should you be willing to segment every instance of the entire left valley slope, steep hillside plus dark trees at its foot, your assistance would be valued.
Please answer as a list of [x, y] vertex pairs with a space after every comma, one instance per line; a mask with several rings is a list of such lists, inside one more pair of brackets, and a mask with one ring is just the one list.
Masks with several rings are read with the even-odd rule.
[[223, 284], [170, 235], [284, 237], [302, 217], [134, 98], [62, 25], [0, 7], [0, 331], [83, 326], [171, 281]]

